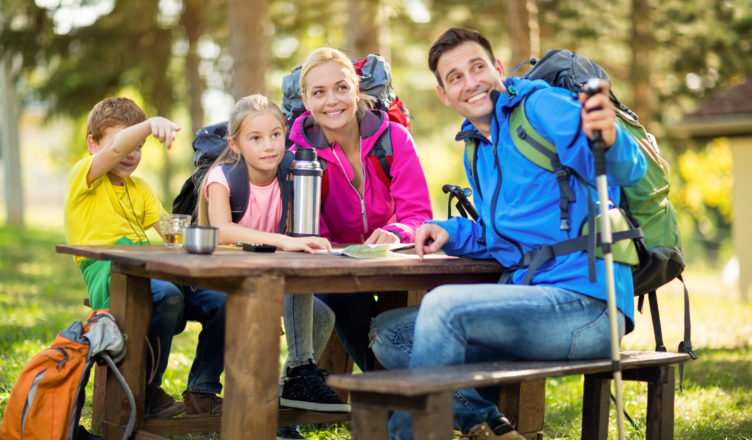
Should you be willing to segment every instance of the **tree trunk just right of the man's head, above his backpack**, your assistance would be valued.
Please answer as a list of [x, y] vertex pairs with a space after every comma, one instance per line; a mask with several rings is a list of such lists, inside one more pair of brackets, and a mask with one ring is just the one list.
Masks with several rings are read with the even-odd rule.
[[[540, 28], [538, 26], [538, 6], [535, 0], [507, 0], [507, 28], [512, 45], [511, 68], [529, 58], [538, 57], [540, 52]], [[527, 70], [521, 69], [518, 74]]]

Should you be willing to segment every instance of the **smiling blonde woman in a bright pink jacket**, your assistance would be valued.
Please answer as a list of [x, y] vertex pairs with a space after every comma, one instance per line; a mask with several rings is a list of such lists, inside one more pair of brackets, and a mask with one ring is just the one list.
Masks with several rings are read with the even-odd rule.
[[[432, 218], [423, 168], [410, 133], [390, 122], [373, 100], [359, 94], [352, 62], [328, 47], [315, 50], [303, 63], [300, 91], [308, 111], [293, 123], [296, 147], [316, 148], [327, 162], [328, 196], [321, 207], [322, 236], [337, 243], [410, 243], [415, 229]], [[392, 163], [389, 185], [369, 152], [389, 136]], [[322, 191], [324, 192], [324, 191]], [[361, 370], [373, 368], [368, 348], [370, 320], [376, 314], [373, 295], [320, 295], [334, 310], [335, 329]]]

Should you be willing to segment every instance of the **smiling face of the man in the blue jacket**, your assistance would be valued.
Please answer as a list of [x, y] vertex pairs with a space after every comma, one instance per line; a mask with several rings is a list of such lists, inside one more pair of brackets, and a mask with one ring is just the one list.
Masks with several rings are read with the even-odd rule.
[[[504, 90], [504, 68], [492, 62], [481, 45], [466, 41], [439, 58], [437, 73], [443, 85], [436, 94], [449, 107], [478, 127], [493, 112], [492, 90]], [[482, 124], [481, 124], [482, 125]]]

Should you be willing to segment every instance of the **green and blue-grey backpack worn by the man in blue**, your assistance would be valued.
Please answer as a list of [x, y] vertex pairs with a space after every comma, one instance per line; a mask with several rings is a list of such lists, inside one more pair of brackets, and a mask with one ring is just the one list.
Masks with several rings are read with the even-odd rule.
[[[532, 59], [528, 62], [532, 63], [533, 67], [523, 75], [523, 78], [543, 79], [553, 86], [575, 93], [580, 91], [581, 85], [589, 78], [609, 79], [606, 72], [596, 63], [566, 49], [549, 50], [541, 60]], [[639, 296], [638, 309], [642, 311], [645, 295], [650, 301], [656, 350], [666, 351], [661, 332], [656, 289], [674, 278], [682, 280], [681, 273], [684, 270], [684, 255], [680, 250], [676, 210], [668, 199], [669, 165], [661, 157], [653, 135], [638, 122], [637, 115], [619, 102], [613, 92], [610, 92], [610, 97], [616, 108], [616, 122], [637, 141], [648, 164], [645, 176], [636, 185], [621, 189], [620, 211], [624, 214], [622, 222], [624, 227], [615, 229], [614, 252], [617, 252], [618, 241], [634, 242], [637, 251], [636, 259], [622, 261], [629, 261], [633, 266], [635, 295]], [[526, 98], [523, 98], [520, 104], [512, 110], [509, 119], [510, 135], [515, 147], [523, 156], [556, 174], [560, 188], [561, 227], [566, 229], [569, 227], [567, 206], [573, 201], [573, 193], [568, 186], [567, 178], [570, 175], [581, 178], [573, 170], [562, 166], [556, 146], [532, 127], [525, 114]], [[471, 164], [473, 175], [475, 175], [475, 160], [477, 159], [476, 150], [476, 141], [467, 139], [465, 153]], [[586, 232], [582, 231], [582, 233], [584, 235]], [[588, 241], [585, 238], [581, 236], [555, 244], [554, 251], [549, 252], [550, 258], [573, 251], [589, 250], [583, 247]], [[534, 253], [535, 251], [530, 254]], [[616, 255], [615, 258], [618, 260]], [[529, 260], [533, 259], [535, 259], [534, 256], [529, 258]], [[689, 295], [685, 286], [684, 340], [680, 342], [678, 350], [696, 358], [690, 342], [690, 324]]]

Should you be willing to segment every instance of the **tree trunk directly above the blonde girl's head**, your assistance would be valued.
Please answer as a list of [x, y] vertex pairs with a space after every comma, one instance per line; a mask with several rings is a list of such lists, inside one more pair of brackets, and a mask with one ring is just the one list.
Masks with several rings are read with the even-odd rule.
[[251, 93], [266, 93], [269, 36], [267, 0], [228, 0], [230, 48], [235, 60], [232, 95], [237, 100]]

